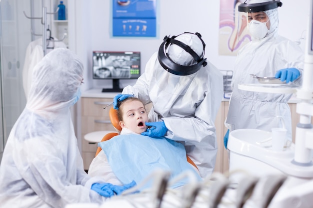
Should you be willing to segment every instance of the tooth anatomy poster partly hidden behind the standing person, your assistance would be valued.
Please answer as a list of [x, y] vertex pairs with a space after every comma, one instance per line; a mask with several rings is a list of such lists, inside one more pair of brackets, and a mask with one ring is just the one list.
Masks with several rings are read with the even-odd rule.
[[[247, 23], [238, 27], [238, 5], [243, 2], [244, 0], [220, 0], [219, 55], [237, 55], [238, 50], [250, 39], [247, 32]], [[238, 34], [241, 39], [237, 38]]]

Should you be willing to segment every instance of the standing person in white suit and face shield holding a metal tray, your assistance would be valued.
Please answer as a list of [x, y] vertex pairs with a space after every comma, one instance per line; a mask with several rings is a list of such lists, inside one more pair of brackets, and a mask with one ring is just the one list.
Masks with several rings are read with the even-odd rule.
[[[246, 0], [238, 6], [247, 16], [251, 41], [244, 45], [236, 57], [231, 81], [226, 125], [228, 129], [261, 129], [271, 131], [281, 127], [281, 116], [291, 140], [291, 114], [287, 101], [292, 94], [250, 92], [238, 89], [238, 84], [258, 83], [250, 74], [276, 77], [292, 85], [301, 82], [304, 54], [299, 45], [278, 35], [279, 0]], [[239, 13], [240, 15], [240, 13]], [[244, 18], [242, 18], [244, 19]], [[227, 147], [229, 130], [224, 137]]]

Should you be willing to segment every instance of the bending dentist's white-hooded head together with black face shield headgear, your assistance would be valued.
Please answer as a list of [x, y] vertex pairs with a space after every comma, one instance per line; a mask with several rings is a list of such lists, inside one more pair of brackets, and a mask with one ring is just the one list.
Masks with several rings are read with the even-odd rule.
[[166, 71], [179, 76], [190, 75], [197, 72], [201, 66], [206, 66], [206, 58], [203, 58], [204, 48], [204, 41], [197, 32], [165, 36], [158, 49], [157, 58]]

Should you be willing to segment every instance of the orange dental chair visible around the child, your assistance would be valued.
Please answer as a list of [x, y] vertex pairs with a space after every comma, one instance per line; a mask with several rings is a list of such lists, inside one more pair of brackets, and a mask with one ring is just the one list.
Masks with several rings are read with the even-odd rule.
[[[118, 133], [117, 132], [116, 133], [115, 132], [111, 132], [111, 133], [108, 133], [108, 134], [104, 135], [104, 137], [101, 139], [101, 142], [109, 140], [112, 137], [119, 135], [119, 133], [121, 131], [121, 127], [119, 126], [119, 120], [118, 120], [118, 117], [117, 117], [117, 111], [113, 107], [111, 107], [109, 112], [108, 112], [108, 115], [109, 115], [109, 118], [110, 118], [110, 121], [111, 121], [113, 127], [115, 128], [115, 130]], [[97, 156], [97, 154], [99, 154], [100, 151], [101, 151], [101, 148], [98, 147], [96, 152], [95, 152], [95, 156]], [[187, 162], [190, 163], [192, 166], [194, 166], [196, 169], [198, 169], [196, 167], [196, 165], [193, 163], [193, 161], [188, 157], [188, 155], [186, 155], [186, 157], [187, 157]]]

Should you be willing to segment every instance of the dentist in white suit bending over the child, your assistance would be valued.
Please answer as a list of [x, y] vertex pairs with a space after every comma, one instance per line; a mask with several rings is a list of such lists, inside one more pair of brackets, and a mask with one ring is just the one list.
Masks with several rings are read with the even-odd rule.
[[141, 133], [181, 141], [201, 178], [213, 172], [217, 143], [214, 120], [223, 97], [221, 72], [203, 58], [199, 33], [167, 37], [148, 60], [135, 85], [126, 86], [117, 100], [129, 95], [152, 103], [150, 128]]

